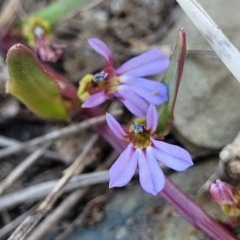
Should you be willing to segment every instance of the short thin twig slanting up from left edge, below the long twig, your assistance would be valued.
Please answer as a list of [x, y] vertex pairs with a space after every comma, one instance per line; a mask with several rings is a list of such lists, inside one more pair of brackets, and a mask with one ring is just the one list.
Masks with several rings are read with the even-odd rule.
[[22, 161], [16, 168], [8, 174], [8, 176], [0, 183], [0, 195], [10, 187], [51, 145], [51, 143], [45, 144], [42, 148], [33, 152], [24, 161]]

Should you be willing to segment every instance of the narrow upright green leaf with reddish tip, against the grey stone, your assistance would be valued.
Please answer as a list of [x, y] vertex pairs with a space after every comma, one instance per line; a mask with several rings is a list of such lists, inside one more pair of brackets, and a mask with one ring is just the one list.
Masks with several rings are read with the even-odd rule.
[[171, 128], [173, 121], [173, 111], [180, 85], [184, 60], [186, 55], [186, 32], [180, 28], [177, 35], [177, 42], [171, 58], [170, 66], [163, 77], [162, 82], [168, 86], [168, 102], [158, 107], [158, 128], [160, 136], [166, 136]]

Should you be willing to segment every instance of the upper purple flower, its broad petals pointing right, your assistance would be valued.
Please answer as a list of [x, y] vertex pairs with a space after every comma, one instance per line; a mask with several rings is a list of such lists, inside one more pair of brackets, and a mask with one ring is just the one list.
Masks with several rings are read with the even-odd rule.
[[[169, 56], [159, 50], [151, 50], [115, 68], [112, 52], [105, 43], [97, 38], [88, 39], [88, 43], [107, 63], [101, 72], [92, 76], [91, 86], [95, 91], [89, 91], [91, 94], [82, 107], [95, 107], [115, 96], [140, 117], [146, 115], [150, 102], [160, 105], [168, 100], [167, 87], [163, 83], [143, 77], [165, 71], [169, 66]], [[86, 81], [80, 82], [80, 99], [81, 95], [86, 96], [84, 91], [89, 79]]]

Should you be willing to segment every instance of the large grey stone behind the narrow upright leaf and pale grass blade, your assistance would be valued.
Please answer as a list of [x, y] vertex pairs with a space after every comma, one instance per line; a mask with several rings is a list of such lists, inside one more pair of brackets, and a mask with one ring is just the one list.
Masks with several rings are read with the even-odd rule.
[[[240, 2], [199, 1], [222, 31], [240, 49]], [[184, 27], [190, 45], [208, 47], [195, 25], [181, 14], [161, 44], [172, 44]], [[210, 48], [210, 46], [209, 46]], [[220, 149], [232, 142], [240, 130], [240, 84], [218, 58], [186, 59], [175, 107], [174, 126], [190, 143]]]

